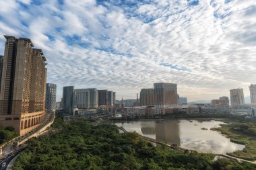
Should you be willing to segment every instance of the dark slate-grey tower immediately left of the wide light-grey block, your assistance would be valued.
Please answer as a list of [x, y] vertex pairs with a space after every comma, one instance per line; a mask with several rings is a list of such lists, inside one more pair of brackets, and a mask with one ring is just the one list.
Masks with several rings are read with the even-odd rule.
[[73, 104], [74, 104], [74, 87], [66, 86], [63, 87], [63, 113], [64, 114], [73, 114]]

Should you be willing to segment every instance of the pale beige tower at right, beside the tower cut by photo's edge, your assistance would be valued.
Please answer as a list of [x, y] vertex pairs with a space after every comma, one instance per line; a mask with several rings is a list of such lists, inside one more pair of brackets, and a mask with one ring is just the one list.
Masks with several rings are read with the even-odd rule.
[[231, 89], [230, 101], [232, 106], [244, 104], [245, 97], [243, 89]]

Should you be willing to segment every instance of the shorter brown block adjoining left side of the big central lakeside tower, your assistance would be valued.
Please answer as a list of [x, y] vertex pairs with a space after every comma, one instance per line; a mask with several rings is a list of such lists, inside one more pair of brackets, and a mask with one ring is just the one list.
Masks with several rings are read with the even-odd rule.
[[141, 89], [140, 105], [154, 105], [154, 89]]

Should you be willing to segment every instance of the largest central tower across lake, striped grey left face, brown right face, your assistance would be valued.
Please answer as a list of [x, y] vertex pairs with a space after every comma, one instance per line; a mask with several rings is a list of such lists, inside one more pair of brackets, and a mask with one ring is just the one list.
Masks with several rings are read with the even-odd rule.
[[166, 108], [177, 104], [177, 84], [154, 83], [154, 105], [156, 108]]

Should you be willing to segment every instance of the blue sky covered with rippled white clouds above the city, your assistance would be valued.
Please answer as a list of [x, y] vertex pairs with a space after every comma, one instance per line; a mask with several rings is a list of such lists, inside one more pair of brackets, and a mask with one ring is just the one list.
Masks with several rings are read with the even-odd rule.
[[255, 0], [0, 0], [3, 35], [30, 38], [47, 82], [108, 89], [135, 99], [177, 83], [188, 101], [256, 84]]

